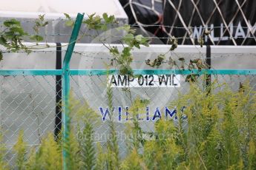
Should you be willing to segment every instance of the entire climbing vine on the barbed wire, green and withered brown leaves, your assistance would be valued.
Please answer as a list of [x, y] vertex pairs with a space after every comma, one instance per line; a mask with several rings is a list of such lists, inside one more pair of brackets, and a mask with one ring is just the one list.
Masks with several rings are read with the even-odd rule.
[[[73, 18], [71, 18], [68, 13], [64, 13], [66, 21], [65, 25], [67, 27], [73, 27], [74, 21]], [[118, 24], [118, 21], [116, 21], [116, 18], [114, 16], [108, 16], [107, 13], [103, 13], [102, 16], [97, 16], [95, 13], [92, 15], [88, 15], [88, 18], [82, 21], [83, 24], [86, 24], [86, 27], [88, 28], [85, 33], [83, 33], [78, 39], [81, 39], [85, 36], [93, 36], [89, 35], [87, 33], [88, 30], [99, 30], [99, 31], [105, 31], [108, 30], [108, 27], [112, 24]], [[24, 52], [27, 52], [29, 54], [33, 49], [38, 49], [39, 41], [43, 41], [44, 38], [42, 35], [39, 35], [39, 30], [43, 27], [47, 26], [48, 21], [45, 21], [45, 15], [39, 15], [39, 18], [36, 19], [35, 25], [33, 26], [33, 30], [35, 32], [34, 35], [28, 35], [28, 33], [24, 32], [21, 23], [15, 19], [10, 19], [7, 21], [4, 21], [4, 30], [0, 33], [0, 44], [4, 47], [6, 47], [7, 52], [17, 52], [20, 50], [24, 50]], [[105, 43], [104, 40], [100, 40], [102, 44], [108, 48], [110, 54], [113, 56], [111, 59], [111, 63], [109, 64], [112, 67], [116, 67], [119, 69], [120, 75], [133, 75], [133, 70], [131, 68], [131, 62], [134, 60], [132, 51], [134, 48], [140, 49], [140, 46], [143, 45], [145, 47], [148, 47], [149, 38], [144, 37], [143, 35], [136, 35], [136, 30], [132, 29], [130, 25], [124, 25], [122, 27], [117, 27], [117, 31], [125, 32], [125, 35], [120, 40], [120, 43], [123, 45], [122, 50], [119, 50], [117, 47], [111, 47], [110, 44]], [[96, 32], [97, 35], [99, 35], [99, 32]], [[211, 30], [206, 30], [203, 35], [209, 35], [211, 33]], [[204, 41], [203, 41], [203, 35], [201, 38], [199, 38], [198, 44], [200, 44], [201, 47], [203, 47]], [[109, 35], [111, 37], [111, 35]], [[27, 47], [22, 44], [24, 41], [24, 38], [29, 37], [31, 40], [36, 41], [36, 46]], [[170, 49], [168, 52], [173, 52], [177, 46], [178, 41], [177, 38], [174, 36], [171, 36], [169, 38], [169, 44], [171, 44]], [[48, 44], [45, 45], [45, 47], [40, 48], [47, 48], [50, 47]], [[146, 60], [145, 64], [147, 64], [150, 67], [156, 67], [159, 68], [163, 63], [165, 63], [165, 58], [168, 52], [165, 52], [163, 54], [157, 55], [157, 58], [154, 60]], [[3, 59], [3, 51], [0, 50], [0, 61]], [[170, 69], [172, 67], [177, 67], [177, 69], [185, 69], [185, 58], [178, 58], [178, 61], [174, 61], [174, 59], [169, 57], [169, 60], [167, 61], [168, 65], [170, 66]], [[200, 58], [197, 58], [195, 60], [190, 60], [188, 64], [188, 69], [207, 69], [207, 65], [203, 63], [203, 61]], [[186, 77], [186, 81], [196, 81], [198, 75], [188, 75]]]

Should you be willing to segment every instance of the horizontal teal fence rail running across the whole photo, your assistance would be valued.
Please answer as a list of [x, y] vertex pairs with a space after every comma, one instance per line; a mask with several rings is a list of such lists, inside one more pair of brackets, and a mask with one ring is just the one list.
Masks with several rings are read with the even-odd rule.
[[[116, 69], [70, 69], [70, 75], [117, 75]], [[134, 69], [134, 75], [256, 75], [256, 69]], [[1, 69], [0, 75], [62, 75], [61, 69]]]

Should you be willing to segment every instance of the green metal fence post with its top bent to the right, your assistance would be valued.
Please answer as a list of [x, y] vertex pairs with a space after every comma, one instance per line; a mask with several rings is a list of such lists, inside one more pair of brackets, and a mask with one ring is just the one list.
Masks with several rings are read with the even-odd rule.
[[62, 149], [62, 161], [63, 161], [63, 169], [68, 169], [68, 137], [69, 137], [69, 95], [70, 95], [70, 59], [73, 53], [73, 48], [76, 44], [76, 39], [79, 34], [79, 30], [82, 24], [82, 19], [84, 18], [84, 14], [78, 13], [76, 16], [76, 22], [73, 26], [73, 31], [70, 36], [70, 41], [68, 44], [68, 49], [65, 53], [65, 58], [63, 61], [62, 67], [62, 96], [64, 99], [64, 108], [62, 112], [62, 124], [63, 124], [63, 149]]

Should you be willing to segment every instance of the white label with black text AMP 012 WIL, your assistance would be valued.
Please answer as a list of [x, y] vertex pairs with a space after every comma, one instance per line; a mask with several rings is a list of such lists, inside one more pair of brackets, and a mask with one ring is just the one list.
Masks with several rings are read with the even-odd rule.
[[111, 87], [180, 87], [180, 75], [108, 75]]

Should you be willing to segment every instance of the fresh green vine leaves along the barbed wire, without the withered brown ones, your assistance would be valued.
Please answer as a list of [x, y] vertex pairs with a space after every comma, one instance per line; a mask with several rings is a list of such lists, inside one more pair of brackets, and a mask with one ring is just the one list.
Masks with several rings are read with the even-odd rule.
[[[73, 19], [68, 15], [68, 13], [64, 13], [64, 15], [66, 18], [65, 25], [68, 27], [73, 27]], [[116, 18], [114, 16], [108, 16], [107, 13], [103, 13], [102, 17], [97, 16], [95, 13], [93, 13], [91, 15], [88, 15], [88, 18], [82, 21], [82, 23], [86, 24], [86, 27], [89, 30], [96, 30], [97, 35], [99, 35], [98, 31], [108, 30], [108, 28], [111, 27], [112, 24], [118, 24]], [[37, 18], [35, 21], [35, 25], [33, 27], [35, 34], [30, 35], [29, 38], [33, 41], [36, 41], [37, 46], [39, 45], [38, 42], [44, 40], [42, 35], [39, 35], [39, 30], [42, 30], [42, 28], [47, 26], [47, 24], [48, 21], [45, 21], [45, 15], [39, 15], [39, 18]], [[31, 50], [33, 50], [33, 47], [25, 47], [22, 44], [23, 39], [27, 37], [28, 34], [24, 32], [19, 21], [16, 21], [15, 19], [7, 20], [4, 21], [4, 26], [6, 27], [6, 29], [4, 29], [4, 31], [2, 31], [0, 34], [0, 44], [6, 47], [7, 51], [17, 52], [19, 50], [24, 50], [25, 52], [29, 53], [31, 52]], [[128, 47], [123, 47], [121, 52], [119, 52], [116, 47], [110, 47], [109, 44], [107, 46], [107, 43], [105, 43], [105, 41], [100, 41], [102, 41], [102, 44], [104, 44], [105, 47], [108, 48], [108, 50], [114, 57], [111, 60], [111, 65], [113, 66], [114, 64], [116, 64], [116, 67], [119, 68], [119, 72], [121, 75], [133, 75], [133, 71], [130, 66], [131, 61], [133, 61], [131, 51], [134, 47], [140, 49], [140, 45], [148, 47], [149, 39], [143, 37], [143, 35], [135, 35], [135, 30], [131, 29], [129, 25], [119, 27], [116, 30], [125, 31], [125, 35], [122, 40], [120, 40], [120, 42], [122, 44], [127, 44]], [[87, 31], [85, 31], [85, 33], [83, 33], [78, 39], [84, 37], [85, 35], [92, 36], [88, 35]], [[111, 37], [111, 35], [109, 36]], [[48, 44], [46, 44], [45, 48], [47, 47], [49, 47]], [[36, 48], [36, 46], [34, 48]], [[0, 51], [0, 61], [3, 58], [2, 55], [3, 52]], [[159, 62], [157, 62], [156, 65], [158, 64]]]

